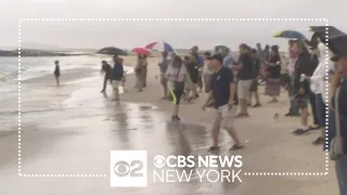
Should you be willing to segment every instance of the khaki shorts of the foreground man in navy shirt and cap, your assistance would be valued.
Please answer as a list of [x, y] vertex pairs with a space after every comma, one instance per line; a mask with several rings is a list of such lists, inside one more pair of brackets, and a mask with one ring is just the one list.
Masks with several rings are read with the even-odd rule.
[[215, 129], [229, 129], [233, 127], [233, 122], [235, 119], [236, 107], [232, 107], [229, 109], [229, 105], [219, 106], [216, 108], [216, 116], [214, 121], [214, 130]]

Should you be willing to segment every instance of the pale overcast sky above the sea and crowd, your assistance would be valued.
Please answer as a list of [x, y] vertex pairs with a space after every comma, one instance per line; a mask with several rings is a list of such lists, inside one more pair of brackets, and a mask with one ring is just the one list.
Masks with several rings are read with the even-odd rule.
[[[346, 0], [1, 0], [0, 47], [17, 44], [20, 17], [326, 17], [347, 31]], [[335, 2], [332, 6], [331, 2]], [[345, 17], [342, 17], [345, 16]], [[215, 44], [236, 48], [256, 42], [285, 46], [271, 38], [281, 29], [309, 36], [324, 22], [23, 22], [22, 42], [62, 48], [131, 49], [156, 40], [174, 48]]]

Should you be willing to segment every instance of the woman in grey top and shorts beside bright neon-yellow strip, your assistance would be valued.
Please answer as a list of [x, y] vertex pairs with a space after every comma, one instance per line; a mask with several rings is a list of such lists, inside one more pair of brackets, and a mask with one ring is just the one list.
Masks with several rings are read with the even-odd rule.
[[179, 105], [184, 93], [184, 82], [188, 76], [187, 68], [180, 56], [175, 56], [172, 63], [168, 66], [165, 76], [169, 81], [170, 93], [174, 99], [174, 112], [171, 119], [172, 121], [179, 121], [181, 120], [179, 117]]

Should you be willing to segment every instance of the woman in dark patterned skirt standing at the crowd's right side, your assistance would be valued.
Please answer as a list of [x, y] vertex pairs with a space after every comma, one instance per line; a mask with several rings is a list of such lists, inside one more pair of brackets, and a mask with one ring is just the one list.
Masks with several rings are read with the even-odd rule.
[[278, 96], [280, 96], [281, 92], [281, 56], [279, 52], [278, 46], [271, 47], [269, 61], [265, 62], [267, 66], [266, 75], [267, 75], [267, 86], [265, 89], [265, 94], [269, 95], [271, 101], [269, 103], [278, 102]]

